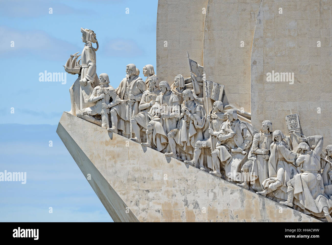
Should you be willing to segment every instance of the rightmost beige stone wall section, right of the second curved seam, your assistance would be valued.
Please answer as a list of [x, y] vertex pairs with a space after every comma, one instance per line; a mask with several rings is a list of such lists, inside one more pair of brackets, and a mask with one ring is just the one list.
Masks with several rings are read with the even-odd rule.
[[[287, 132], [285, 116], [297, 113], [304, 135], [332, 141], [331, 8], [331, 1], [262, 1], [251, 57], [253, 126], [268, 118]], [[272, 71], [293, 72], [293, 84], [268, 82]]]

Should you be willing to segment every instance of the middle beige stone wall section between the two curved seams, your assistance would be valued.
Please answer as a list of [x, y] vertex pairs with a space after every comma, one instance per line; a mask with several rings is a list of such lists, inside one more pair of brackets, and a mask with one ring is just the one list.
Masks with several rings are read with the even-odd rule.
[[209, 0], [204, 23], [206, 79], [225, 86], [225, 105], [228, 101], [247, 112], [251, 47], [260, 3], [261, 0]]

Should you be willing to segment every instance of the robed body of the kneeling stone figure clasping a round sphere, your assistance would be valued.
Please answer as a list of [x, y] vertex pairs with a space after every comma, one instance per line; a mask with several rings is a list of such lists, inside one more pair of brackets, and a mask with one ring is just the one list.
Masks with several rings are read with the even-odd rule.
[[[167, 105], [167, 106], [166, 106]], [[160, 93], [156, 98], [155, 105], [151, 108], [150, 114], [155, 116], [158, 114], [158, 110], [161, 109], [161, 113], [167, 113], [168, 115], [174, 115], [173, 118], [165, 119], [158, 117], [158, 121], [152, 120], [153, 134], [152, 140], [158, 151], [162, 151], [167, 147], [168, 137], [167, 133], [176, 128], [177, 122], [180, 116], [180, 102], [179, 97], [171, 91], [166, 91], [165, 94]]]

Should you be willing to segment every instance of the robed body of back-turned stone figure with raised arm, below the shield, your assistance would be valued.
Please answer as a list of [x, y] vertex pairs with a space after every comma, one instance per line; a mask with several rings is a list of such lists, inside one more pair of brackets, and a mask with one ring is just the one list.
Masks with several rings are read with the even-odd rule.
[[305, 154], [301, 154], [296, 165], [300, 173], [290, 179], [294, 188], [293, 203], [302, 209], [309, 210], [312, 214], [324, 217], [323, 207], [332, 211], [332, 200], [324, 195], [324, 183], [318, 171], [321, 170], [320, 154], [323, 145], [323, 136], [310, 136], [308, 140], [310, 147], [315, 146]]

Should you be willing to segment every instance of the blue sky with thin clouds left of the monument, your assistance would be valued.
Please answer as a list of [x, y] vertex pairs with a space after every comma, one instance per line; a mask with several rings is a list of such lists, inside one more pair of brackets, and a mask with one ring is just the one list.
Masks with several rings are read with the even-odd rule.
[[126, 65], [134, 63], [142, 77], [144, 65], [156, 64], [157, 4], [0, 1], [1, 83], [6, 90], [0, 105], [0, 172], [27, 172], [25, 185], [0, 182], [0, 221], [112, 221], [55, 132], [62, 112], [70, 110], [69, 88], [77, 75], [67, 74], [61, 84], [40, 82], [39, 73], [64, 72], [69, 55], [83, 49], [83, 27], [97, 35], [98, 75], [107, 73], [117, 87]]

